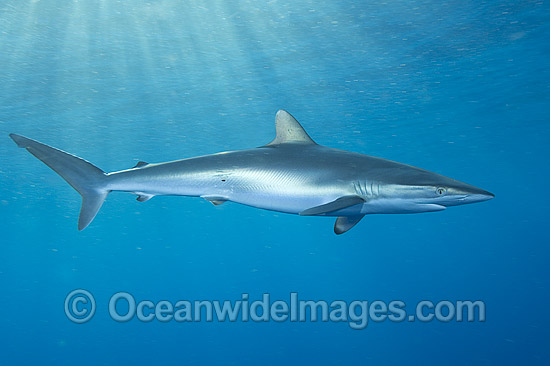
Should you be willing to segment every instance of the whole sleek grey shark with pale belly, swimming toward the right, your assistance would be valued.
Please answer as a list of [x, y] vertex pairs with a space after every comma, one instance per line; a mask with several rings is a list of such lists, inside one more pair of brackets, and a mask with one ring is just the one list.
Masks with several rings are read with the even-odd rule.
[[202, 197], [302, 216], [337, 217], [342, 234], [367, 214], [442, 211], [486, 201], [490, 192], [415, 168], [316, 144], [298, 121], [280, 110], [276, 137], [248, 150], [148, 164], [105, 173], [77, 156], [10, 134], [82, 196], [78, 230], [94, 219], [112, 191], [131, 192], [145, 202], [158, 195]]

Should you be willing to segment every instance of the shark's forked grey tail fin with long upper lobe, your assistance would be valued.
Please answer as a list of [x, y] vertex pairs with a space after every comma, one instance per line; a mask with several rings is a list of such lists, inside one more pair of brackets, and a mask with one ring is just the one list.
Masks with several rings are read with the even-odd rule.
[[67, 181], [82, 196], [82, 207], [78, 218], [78, 230], [86, 228], [101, 208], [107, 189], [107, 175], [95, 165], [77, 156], [68, 154], [48, 145], [29, 138], [10, 134], [17, 146], [28, 152], [52, 168]]

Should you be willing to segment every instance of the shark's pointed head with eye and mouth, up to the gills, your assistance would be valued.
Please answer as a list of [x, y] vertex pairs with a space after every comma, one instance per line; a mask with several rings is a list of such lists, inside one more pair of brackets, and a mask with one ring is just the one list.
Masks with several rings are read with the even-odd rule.
[[379, 212], [441, 211], [450, 206], [483, 202], [495, 197], [481, 188], [437, 173], [399, 163], [396, 165], [397, 169], [390, 169], [390, 174], [385, 172], [384, 183], [371, 188], [378, 198]]

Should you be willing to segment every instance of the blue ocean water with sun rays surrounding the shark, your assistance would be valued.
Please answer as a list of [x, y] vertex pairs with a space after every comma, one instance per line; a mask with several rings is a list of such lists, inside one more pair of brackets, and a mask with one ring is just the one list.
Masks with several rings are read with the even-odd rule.
[[[0, 2], [0, 364], [547, 365], [548, 39], [542, 0]], [[336, 236], [332, 218], [113, 193], [79, 232], [78, 194], [8, 137], [116, 171], [263, 145], [281, 108], [320, 144], [496, 198]], [[74, 289], [95, 298], [86, 323]], [[486, 319], [117, 322], [118, 292], [480, 300]]]

